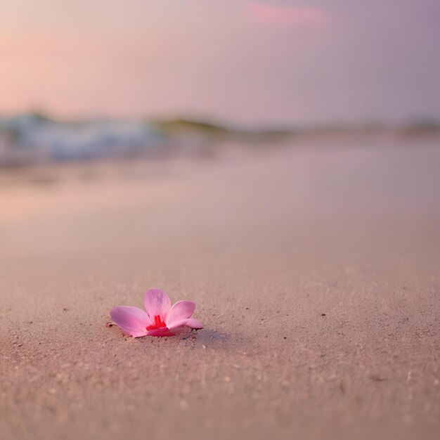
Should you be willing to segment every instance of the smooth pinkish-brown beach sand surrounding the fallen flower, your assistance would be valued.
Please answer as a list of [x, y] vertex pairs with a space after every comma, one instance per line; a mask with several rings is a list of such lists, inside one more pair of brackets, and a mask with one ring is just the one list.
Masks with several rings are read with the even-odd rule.
[[[0, 171], [0, 432], [436, 439], [440, 149]], [[126, 337], [160, 287], [198, 332]]]

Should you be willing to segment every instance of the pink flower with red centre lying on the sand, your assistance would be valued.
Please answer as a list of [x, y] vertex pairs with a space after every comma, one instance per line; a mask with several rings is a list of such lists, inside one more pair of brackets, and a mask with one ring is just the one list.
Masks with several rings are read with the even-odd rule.
[[195, 304], [179, 301], [171, 306], [171, 301], [160, 289], [149, 289], [143, 297], [145, 311], [131, 306], [117, 306], [110, 310], [113, 322], [133, 337], [173, 336], [192, 328], [203, 328], [197, 319], [190, 318]]

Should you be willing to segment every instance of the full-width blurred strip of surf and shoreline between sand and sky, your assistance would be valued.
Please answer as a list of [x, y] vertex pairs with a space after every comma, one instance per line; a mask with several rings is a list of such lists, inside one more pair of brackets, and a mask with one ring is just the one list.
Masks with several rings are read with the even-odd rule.
[[217, 145], [273, 146], [292, 139], [318, 139], [332, 143], [343, 138], [440, 139], [439, 124], [403, 127], [243, 128], [194, 119], [147, 121], [143, 119], [85, 119], [61, 121], [40, 113], [0, 117], [0, 167], [25, 167], [100, 158], [151, 157], [158, 155], [210, 155]]

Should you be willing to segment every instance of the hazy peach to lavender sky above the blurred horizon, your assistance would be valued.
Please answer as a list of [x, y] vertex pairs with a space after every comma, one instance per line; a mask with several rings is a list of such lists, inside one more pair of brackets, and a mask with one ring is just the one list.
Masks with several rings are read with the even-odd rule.
[[439, 0], [0, 0], [0, 113], [440, 119]]

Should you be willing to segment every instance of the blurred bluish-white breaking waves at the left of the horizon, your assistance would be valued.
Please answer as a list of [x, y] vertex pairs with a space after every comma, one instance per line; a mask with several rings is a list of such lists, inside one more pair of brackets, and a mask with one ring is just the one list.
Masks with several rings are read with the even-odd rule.
[[154, 150], [163, 136], [141, 121], [60, 122], [39, 115], [0, 118], [0, 166], [90, 160]]

